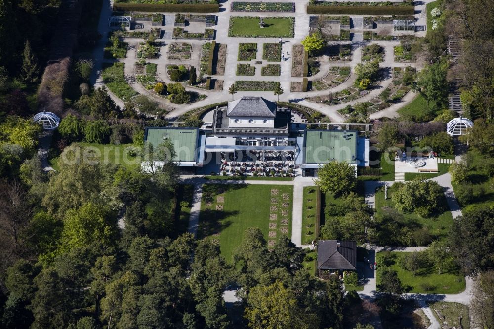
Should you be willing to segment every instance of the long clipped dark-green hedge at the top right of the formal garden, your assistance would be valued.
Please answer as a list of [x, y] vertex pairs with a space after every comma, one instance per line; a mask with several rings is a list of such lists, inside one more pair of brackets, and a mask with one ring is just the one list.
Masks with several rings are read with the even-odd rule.
[[413, 15], [413, 6], [325, 6], [308, 5], [308, 14], [323, 15]]

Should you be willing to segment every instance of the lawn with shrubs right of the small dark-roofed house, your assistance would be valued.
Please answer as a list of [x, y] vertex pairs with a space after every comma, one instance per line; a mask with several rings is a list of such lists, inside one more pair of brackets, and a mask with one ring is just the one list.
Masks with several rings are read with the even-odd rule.
[[[377, 261], [377, 284], [380, 283], [380, 274], [386, 266], [384, 258], [388, 258], [389, 267], [398, 273], [404, 286], [408, 286], [410, 293], [447, 293], [455, 294], [465, 290], [465, 277], [461, 276], [456, 269], [443, 269], [439, 271], [434, 267], [428, 267], [417, 271], [413, 275], [411, 271], [407, 271], [400, 266], [400, 259], [404, 258], [408, 252], [378, 252], [376, 253]], [[423, 286], [429, 286], [426, 290]]]

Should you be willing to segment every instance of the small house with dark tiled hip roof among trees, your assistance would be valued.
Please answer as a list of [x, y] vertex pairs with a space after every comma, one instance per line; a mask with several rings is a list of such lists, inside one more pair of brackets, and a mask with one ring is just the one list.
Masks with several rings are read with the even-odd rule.
[[357, 243], [347, 240], [320, 240], [317, 244], [317, 269], [332, 272], [357, 269]]

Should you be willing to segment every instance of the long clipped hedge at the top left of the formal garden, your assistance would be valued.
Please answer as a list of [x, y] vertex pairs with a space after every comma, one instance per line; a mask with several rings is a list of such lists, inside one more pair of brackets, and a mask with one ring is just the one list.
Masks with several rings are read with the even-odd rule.
[[189, 4], [189, 3], [115, 3], [114, 11], [144, 11], [144, 12], [219, 12], [219, 4]]

